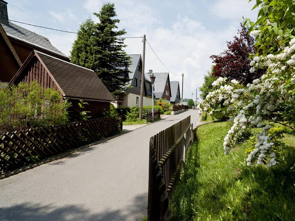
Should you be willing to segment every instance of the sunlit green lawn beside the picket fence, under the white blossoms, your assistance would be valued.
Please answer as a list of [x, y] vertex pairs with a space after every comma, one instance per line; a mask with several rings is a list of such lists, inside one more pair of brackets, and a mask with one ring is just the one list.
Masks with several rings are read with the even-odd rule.
[[281, 161], [268, 168], [246, 166], [250, 141], [224, 155], [223, 138], [231, 123], [198, 128], [186, 171], [172, 194], [173, 220], [294, 220], [294, 135], [286, 133]]

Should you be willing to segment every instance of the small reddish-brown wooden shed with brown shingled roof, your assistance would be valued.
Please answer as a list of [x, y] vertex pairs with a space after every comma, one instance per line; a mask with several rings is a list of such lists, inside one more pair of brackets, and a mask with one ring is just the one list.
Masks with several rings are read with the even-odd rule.
[[[17, 71], [9, 86], [34, 80], [44, 88], [59, 90], [63, 99], [68, 99], [73, 104], [70, 111], [89, 111], [88, 115], [93, 118], [101, 116], [104, 110], [109, 110], [110, 103], [115, 101], [93, 70], [35, 50]], [[88, 103], [82, 110], [78, 107], [79, 100]]]

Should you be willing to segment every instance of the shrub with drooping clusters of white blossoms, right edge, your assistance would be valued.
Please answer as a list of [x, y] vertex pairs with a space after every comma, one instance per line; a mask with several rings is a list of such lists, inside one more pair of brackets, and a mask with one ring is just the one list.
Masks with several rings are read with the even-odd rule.
[[250, 65], [250, 72], [258, 68], [266, 68], [267, 71], [246, 87], [234, 79], [218, 78], [212, 85], [220, 85], [220, 88], [210, 92], [198, 106], [199, 114], [216, 102], [223, 103], [224, 108], [219, 106], [219, 109], [212, 110], [212, 114], [230, 117], [230, 121], [233, 121], [232, 128], [224, 138], [225, 154], [235, 146], [237, 137], [249, 124], [263, 127], [257, 135], [256, 149], [247, 158], [247, 164], [253, 164], [256, 159], [257, 164], [261, 164], [266, 159], [267, 165], [273, 166], [277, 162], [273, 143], [269, 141], [271, 137], [268, 136], [271, 124], [280, 123], [295, 130], [295, 39], [283, 47], [281, 53], [256, 56]]

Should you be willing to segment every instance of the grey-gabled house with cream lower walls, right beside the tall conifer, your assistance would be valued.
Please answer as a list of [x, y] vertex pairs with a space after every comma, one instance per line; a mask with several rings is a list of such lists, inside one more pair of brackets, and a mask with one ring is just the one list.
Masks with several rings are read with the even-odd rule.
[[133, 107], [140, 103], [140, 89], [143, 88], [143, 105], [152, 105], [152, 89], [151, 82], [145, 79], [145, 82], [141, 82], [141, 68], [142, 60], [141, 55], [128, 55], [131, 57], [131, 64], [129, 67], [125, 67], [130, 71], [129, 79], [132, 88], [125, 91], [123, 99], [119, 106]]

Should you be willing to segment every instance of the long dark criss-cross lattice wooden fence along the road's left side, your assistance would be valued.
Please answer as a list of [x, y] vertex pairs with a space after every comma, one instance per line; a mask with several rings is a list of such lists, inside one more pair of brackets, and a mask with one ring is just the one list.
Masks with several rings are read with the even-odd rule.
[[0, 174], [116, 135], [121, 130], [122, 120], [106, 117], [4, 133], [0, 139]]

